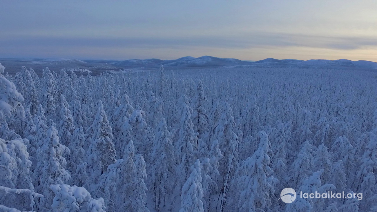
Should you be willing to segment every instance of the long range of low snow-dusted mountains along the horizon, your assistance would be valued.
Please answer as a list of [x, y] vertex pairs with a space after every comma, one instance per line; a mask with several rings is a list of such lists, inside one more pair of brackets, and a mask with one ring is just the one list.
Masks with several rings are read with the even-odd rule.
[[0, 63], [6, 67], [6, 72], [15, 74], [21, 66], [33, 68], [41, 75], [41, 70], [49, 67], [51, 70], [87, 69], [92, 75], [104, 71], [118, 71], [120, 69], [153, 70], [161, 65], [169, 69], [184, 68], [233, 68], [233, 67], [279, 67], [279, 68], [334, 68], [334, 69], [368, 69], [377, 71], [377, 63], [366, 60], [278, 60], [266, 58], [258, 61], [244, 61], [234, 58], [219, 58], [211, 56], [181, 57], [175, 60], [131, 59], [131, 60], [70, 60], [70, 59], [34, 59], [34, 58], [0, 58]]

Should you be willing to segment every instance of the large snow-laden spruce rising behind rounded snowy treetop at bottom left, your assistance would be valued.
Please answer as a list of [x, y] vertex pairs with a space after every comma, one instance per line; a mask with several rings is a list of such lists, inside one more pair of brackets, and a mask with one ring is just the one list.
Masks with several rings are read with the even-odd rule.
[[43, 193], [39, 203], [39, 210], [48, 210], [51, 207], [54, 194], [50, 189], [52, 184], [64, 184], [69, 182], [70, 173], [65, 169], [67, 164], [64, 155], [69, 154], [68, 147], [60, 144], [58, 130], [55, 123], [50, 120], [51, 126], [47, 131], [47, 138], [38, 151], [38, 165], [34, 172], [34, 178], [39, 178], [37, 190]]

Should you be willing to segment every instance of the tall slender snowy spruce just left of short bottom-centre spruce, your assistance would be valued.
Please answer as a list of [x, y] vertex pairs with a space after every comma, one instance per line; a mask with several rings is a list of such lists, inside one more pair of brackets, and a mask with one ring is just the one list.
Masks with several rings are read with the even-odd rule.
[[152, 152], [149, 155], [148, 175], [149, 190], [153, 192], [155, 209], [160, 211], [161, 203], [164, 206], [166, 198], [172, 193], [171, 185], [175, 177], [176, 157], [164, 118], [162, 118], [156, 132]]

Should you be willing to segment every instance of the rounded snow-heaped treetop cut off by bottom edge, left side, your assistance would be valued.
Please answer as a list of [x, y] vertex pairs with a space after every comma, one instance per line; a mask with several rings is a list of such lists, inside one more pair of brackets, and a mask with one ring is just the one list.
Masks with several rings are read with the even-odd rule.
[[55, 184], [51, 185], [50, 188], [55, 194], [54, 201], [51, 205], [51, 212], [105, 212], [103, 198], [96, 200], [90, 197], [90, 193], [83, 187]]

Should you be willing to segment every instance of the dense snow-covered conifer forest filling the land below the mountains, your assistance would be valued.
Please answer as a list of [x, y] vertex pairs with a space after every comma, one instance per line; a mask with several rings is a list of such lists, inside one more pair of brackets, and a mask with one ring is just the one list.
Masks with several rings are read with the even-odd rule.
[[0, 211], [377, 211], [377, 72], [5, 70]]

